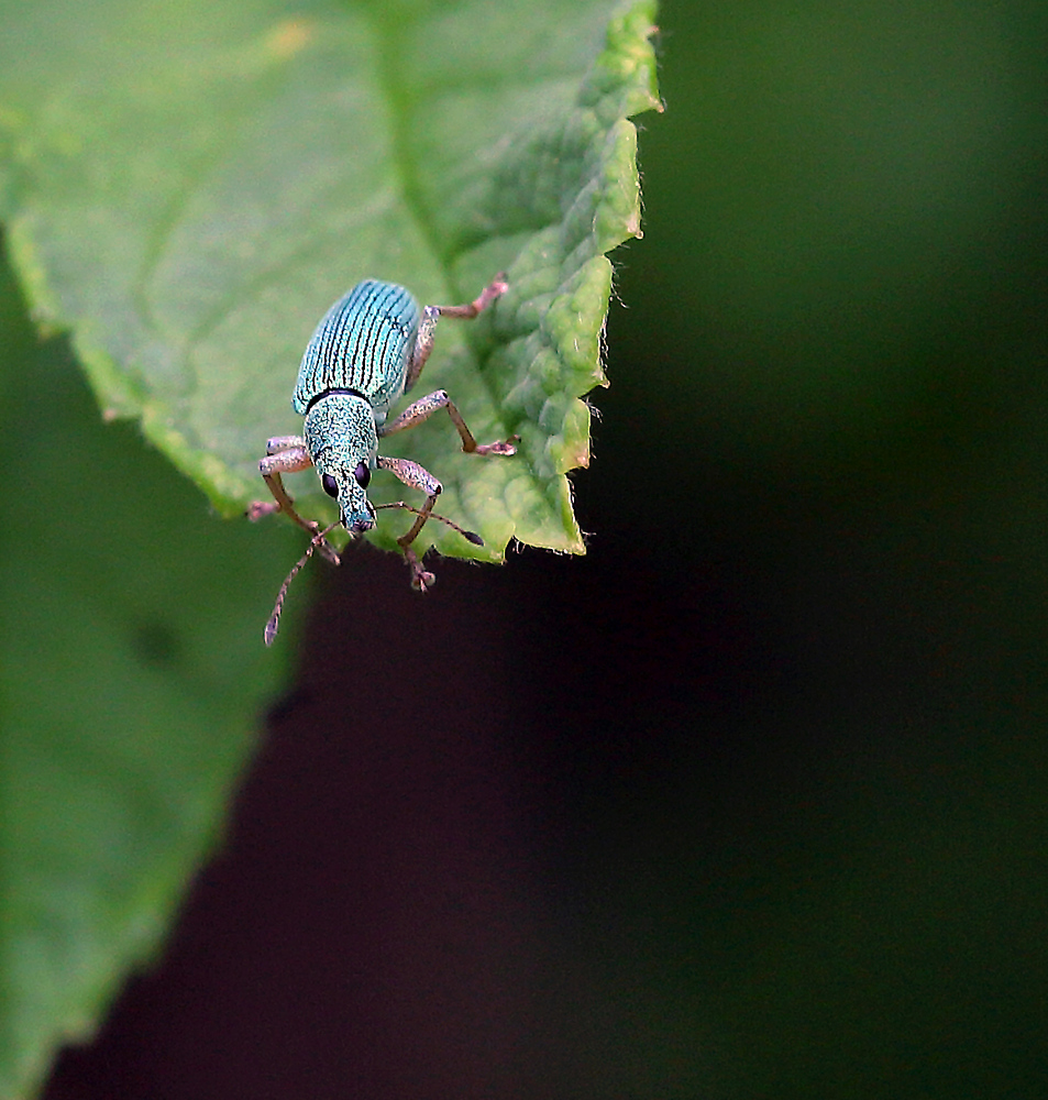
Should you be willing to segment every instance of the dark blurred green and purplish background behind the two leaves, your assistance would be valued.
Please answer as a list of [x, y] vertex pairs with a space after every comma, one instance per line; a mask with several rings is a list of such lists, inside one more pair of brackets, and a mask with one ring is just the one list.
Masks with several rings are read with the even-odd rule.
[[1048, 1091], [1045, 15], [669, 2], [584, 559], [330, 574], [59, 1098]]

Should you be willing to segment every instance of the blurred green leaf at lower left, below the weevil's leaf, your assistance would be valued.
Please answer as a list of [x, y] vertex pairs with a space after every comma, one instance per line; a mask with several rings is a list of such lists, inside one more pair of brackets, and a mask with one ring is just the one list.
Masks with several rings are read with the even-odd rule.
[[90, 1033], [207, 855], [294, 652], [262, 620], [299, 541], [209, 517], [16, 307], [0, 267], [4, 1100]]

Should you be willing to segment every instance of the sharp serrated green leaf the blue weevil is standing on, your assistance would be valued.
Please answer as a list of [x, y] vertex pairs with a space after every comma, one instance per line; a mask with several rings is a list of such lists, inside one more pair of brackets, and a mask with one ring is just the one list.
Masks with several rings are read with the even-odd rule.
[[[141, 418], [233, 515], [264, 440], [300, 430], [289, 394], [332, 300], [368, 275], [468, 300], [506, 270], [489, 316], [440, 326], [420, 386], [478, 439], [519, 435], [518, 455], [462, 454], [444, 418], [384, 451], [435, 473], [441, 510], [486, 540], [430, 524], [443, 552], [583, 552], [565, 475], [605, 383], [605, 253], [640, 230], [627, 119], [658, 107], [654, 4], [608, 28], [609, 7], [12, 6], [3, 194], [35, 315], [71, 332], [107, 415]], [[402, 495], [375, 484], [376, 503]], [[291, 490], [334, 518], [311, 472]], [[376, 539], [402, 528], [385, 513]]]

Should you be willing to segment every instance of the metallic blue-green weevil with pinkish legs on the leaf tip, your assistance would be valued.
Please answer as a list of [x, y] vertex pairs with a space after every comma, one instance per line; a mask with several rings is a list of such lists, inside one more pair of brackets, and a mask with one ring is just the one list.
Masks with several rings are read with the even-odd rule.
[[[411, 570], [411, 584], [426, 592], [433, 583], [411, 543], [428, 519], [437, 519], [478, 546], [483, 540], [433, 512], [441, 483], [418, 462], [386, 458], [378, 453], [378, 441], [394, 432], [413, 428], [439, 409], [446, 409], [470, 454], [510, 455], [516, 453], [511, 439], [477, 443], [462, 414], [443, 389], [437, 389], [409, 405], [395, 420], [386, 422], [389, 406], [418, 381], [433, 350], [433, 334], [441, 317], [470, 319], [486, 309], [507, 289], [504, 275], [497, 275], [465, 306], [427, 306], [419, 309], [415, 298], [395, 283], [365, 279], [341, 297], [323, 316], [306, 345], [291, 407], [305, 417], [301, 436], [275, 436], [266, 442], [266, 455], [258, 462], [273, 501], [256, 501], [249, 509], [252, 519], [283, 512], [310, 536], [305, 556], [280, 587], [273, 615], [266, 624], [265, 641], [272, 645], [279, 625], [287, 587], [319, 550], [335, 564], [339, 556], [327, 542], [327, 535], [341, 522], [353, 536], [375, 526], [377, 508], [402, 508], [415, 514], [410, 530], [397, 544]], [[313, 466], [323, 491], [339, 502], [339, 520], [326, 530], [304, 519], [284, 486], [282, 474]], [[367, 485], [373, 470], [388, 470], [409, 488], [426, 494], [420, 508], [404, 501], [373, 505]]]

